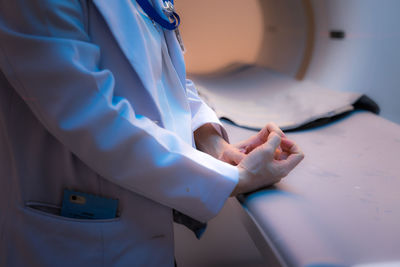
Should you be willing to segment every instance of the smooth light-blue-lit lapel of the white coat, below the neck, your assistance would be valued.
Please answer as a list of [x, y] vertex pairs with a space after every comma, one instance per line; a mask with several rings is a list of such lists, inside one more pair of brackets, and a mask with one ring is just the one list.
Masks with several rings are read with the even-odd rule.
[[[151, 64], [161, 64], [161, 56], [154, 56], [157, 51], [149, 51], [143, 36], [143, 23], [132, 0], [93, 0], [103, 16], [124, 55], [138, 74], [144, 87], [151, 93], [161, 73], [155, 73]], [[161, 47], [159, 47], [161, 51]], [[154, 60], [160, 62], [153, 62]]]

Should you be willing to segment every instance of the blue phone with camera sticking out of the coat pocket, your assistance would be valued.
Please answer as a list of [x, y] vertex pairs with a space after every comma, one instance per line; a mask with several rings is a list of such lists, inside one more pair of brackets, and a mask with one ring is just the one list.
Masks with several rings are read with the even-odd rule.
[[118, 199], [105, 198], [65, 189], [61, 216], [77, 219], [113, 219]]

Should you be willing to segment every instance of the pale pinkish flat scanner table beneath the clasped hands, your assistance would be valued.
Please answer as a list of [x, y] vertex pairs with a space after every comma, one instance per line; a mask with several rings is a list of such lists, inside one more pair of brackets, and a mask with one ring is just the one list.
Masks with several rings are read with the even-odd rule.
[[[255, 134], [224, 126], [232, 143]], [[400, 126], [357, 111], [287, 135], [303, 162], [235, 200], [266, 266], [400, 266]]]

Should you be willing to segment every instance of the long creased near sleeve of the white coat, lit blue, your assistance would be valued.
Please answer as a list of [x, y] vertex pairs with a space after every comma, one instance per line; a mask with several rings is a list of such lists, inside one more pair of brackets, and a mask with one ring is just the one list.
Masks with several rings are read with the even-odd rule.
[[48, 131], [94, 171], [209, 220], [234, 189], [237, 168], [115, 97], [113, 74], [99, 69], [85, 21], [78, 0], [0, 0], [1, 71]]

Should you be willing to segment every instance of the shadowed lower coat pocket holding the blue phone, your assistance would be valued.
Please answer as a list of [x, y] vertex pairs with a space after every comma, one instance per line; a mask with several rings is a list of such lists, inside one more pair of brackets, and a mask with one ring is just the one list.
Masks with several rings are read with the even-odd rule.
[[23, 208], [23, 238], [29, 259], [38, 266], [101, 266], [104, 257], [103, 229], [112, 231], [120, 218], [74, 219], [58, 215], [56, 205], [27, 202]]

